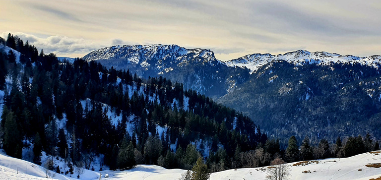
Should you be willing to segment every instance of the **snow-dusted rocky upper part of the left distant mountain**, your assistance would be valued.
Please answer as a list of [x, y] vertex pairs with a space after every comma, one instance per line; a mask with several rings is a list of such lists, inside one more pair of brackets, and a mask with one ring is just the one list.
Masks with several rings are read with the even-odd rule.
[[102, 60], [114, 68], [127, 66], [140, 67], [143, 71], [154, 70], [161, 75], [177, 67], [190, 64], [223, 63], [214, 57], [214, 53], [205, 49], [187, 49], [178, 45], [118, 45], [101, 48], [83, 57], [84, 60]]

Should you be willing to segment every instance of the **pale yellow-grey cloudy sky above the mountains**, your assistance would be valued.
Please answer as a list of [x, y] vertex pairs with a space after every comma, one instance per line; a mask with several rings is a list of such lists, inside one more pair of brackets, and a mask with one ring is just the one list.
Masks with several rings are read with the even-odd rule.
[[177, 44], [219, 60], [296, 50], [381, 55], [380, 0], [0, 0], [0, 36], [83, 57], [112, 45]]

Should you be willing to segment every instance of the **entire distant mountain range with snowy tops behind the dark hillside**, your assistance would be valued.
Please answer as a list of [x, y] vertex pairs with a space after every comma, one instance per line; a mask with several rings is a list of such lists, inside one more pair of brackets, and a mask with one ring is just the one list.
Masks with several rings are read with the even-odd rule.
[[210, 50], [177, 45], [102, 48], [83, 57], [144, 78], [184, 83], [249, 115], [274, 136], [313, 140], [380, 135], [381, 56], [342, 56], [304, 50], [217, 60]]

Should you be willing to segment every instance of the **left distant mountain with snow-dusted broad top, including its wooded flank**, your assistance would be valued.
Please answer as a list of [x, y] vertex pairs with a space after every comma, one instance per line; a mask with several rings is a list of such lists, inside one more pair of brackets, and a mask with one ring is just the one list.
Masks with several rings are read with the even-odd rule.
[[109, 68], [129, 69], [144, 78], [163, 76], [215, 99], [249, 76], [248, 69], [227, 66], [210, 50], [177, 45], [112, 46], [93, 51], [83, 59], [96, 60]]

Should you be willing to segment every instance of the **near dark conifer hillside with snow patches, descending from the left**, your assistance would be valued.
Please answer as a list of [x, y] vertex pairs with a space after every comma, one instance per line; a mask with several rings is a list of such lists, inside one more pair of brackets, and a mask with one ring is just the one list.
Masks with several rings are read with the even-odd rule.
[[87, 169], [94, 156], [111, 169], [190, 169], [198, 157], [218, 152], [225, 169], [237, 147], [254, 150], [267, 140], [248, 117], [181, 83], [95, 61], [59, 61], [12, 35], [3, 43], [21, 53], [0, 54], [1, 144], [8, 155], [22, 158], [32, 148], [37, 164], [44, 150]]

